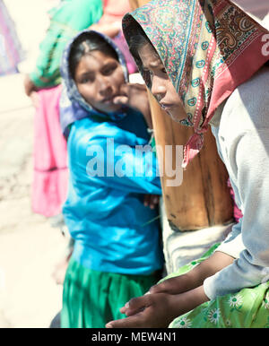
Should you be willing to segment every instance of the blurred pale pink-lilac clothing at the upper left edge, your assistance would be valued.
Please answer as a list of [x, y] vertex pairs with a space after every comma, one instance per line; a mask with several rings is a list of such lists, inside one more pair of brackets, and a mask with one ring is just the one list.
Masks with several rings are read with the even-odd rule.
[[0, 76], [18, 72], [24, 53], [13, 19], [0, 0]]

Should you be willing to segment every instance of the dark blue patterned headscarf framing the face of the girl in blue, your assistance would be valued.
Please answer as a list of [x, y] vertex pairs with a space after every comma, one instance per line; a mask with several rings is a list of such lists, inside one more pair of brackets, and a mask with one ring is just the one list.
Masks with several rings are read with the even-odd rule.
[[65, 51], [63, 53], [62, 57], [62, 64], [61, 64], [61, 74], [62, 74], [62, 84], [63, 84], [63, 91], [61, 94], [60, 99], [60, 123], [61, 128], [63, 131], [63, 134], [67, 137], [69, 132], [69, 125], [73, 124], [74, 121], [80, 120], [83, 117], [98, 117], [100, 119], [104, 120], [118, 120], [123, 117], [126, 117], [126, 107], [124, 106], [121, 110], [117, 111], [116, 113], [108, 113], [104, 114], [101, 113], [99, 110], [92, 108], [89, 103], [85, 101], [85, 99], [82, 98], [82, 95], [77, 89], [77, 86], [74, 82], [74, 79], [71, 76], [70, 68], [69, 68], [69, 56], [70, 56], [70, 50], [72, 48], [72, 44], [75, 39], [78, 39], [82, 35], [86, 35], [87, 33], [94, 33], [95, 35], [98, 35], [100, 39], [105, 39], [112, 48], [115, 49], [119, 64], [123, 68], [123, 72], [125, 75], [125, 80], [128, 82], [128, 71], [126, 67], [126, 59], [123, 56], [122, 52], [117, 48], [115, 43], [108, 38], [108, 36], [101, 34], [98, 31], [93, 30], [83, 30], [78, 35], [76, 35], [66, 46]]

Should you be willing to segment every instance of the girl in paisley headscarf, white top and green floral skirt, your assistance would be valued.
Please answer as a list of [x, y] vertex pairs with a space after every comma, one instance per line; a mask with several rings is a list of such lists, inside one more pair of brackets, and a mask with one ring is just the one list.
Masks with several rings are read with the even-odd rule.
[[230, 0], [153, 0], [126, 15], [124, 32], [161, 107], [194, 128], [183, 167], [211, 128], [243, 217], [212, 255], [107, 326], [268, 327], [269, 32]]

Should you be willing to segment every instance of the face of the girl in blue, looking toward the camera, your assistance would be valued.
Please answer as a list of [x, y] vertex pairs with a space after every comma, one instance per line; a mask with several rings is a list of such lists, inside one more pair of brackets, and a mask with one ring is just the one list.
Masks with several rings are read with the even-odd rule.
[[113, 99], [119, 95], [125, 77], [122, 66], [114, 57], [99, 50], [82, 56], [75, 69], [74, 82], [91, 107], [103, 113], [115, 112], [121, 108], [113, 103]]

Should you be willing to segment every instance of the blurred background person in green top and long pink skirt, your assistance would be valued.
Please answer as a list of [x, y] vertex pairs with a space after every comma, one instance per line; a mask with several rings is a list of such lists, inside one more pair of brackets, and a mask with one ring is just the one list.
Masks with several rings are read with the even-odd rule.
[[49, 26], [39, 46], [34, 70], [26, 74], [24, 89], [36, 108], [34, 118], [31, 207], [55, 226], [64, 227], [61, 210], [67, 192], [66, 142], [59, 125], [60, 60], [66, 42], [98, 22], [101, 0], [61, 1], [48, 11]]

